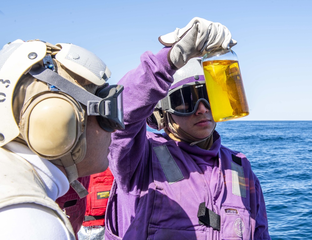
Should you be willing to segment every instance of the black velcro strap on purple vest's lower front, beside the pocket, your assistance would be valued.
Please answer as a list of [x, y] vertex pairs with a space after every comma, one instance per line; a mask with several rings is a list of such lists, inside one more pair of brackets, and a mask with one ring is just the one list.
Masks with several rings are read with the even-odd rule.
[[208, 225], [213, 229], [220, 231], [221, 217], [212, 210], [206, 208], [205, 202], [201, 203], [197, 212], [198, 224]]

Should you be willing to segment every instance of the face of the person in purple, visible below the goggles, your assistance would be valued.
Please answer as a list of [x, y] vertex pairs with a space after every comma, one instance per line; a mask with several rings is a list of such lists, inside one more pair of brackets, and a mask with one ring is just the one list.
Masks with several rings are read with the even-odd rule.
[[174, 114], [171, 116], [184, 132], [198, 139], [208, 137], [216, 125], [210, 109], [202, 101], [199, 102], [196, 112], [190, 116], [178, 116]]

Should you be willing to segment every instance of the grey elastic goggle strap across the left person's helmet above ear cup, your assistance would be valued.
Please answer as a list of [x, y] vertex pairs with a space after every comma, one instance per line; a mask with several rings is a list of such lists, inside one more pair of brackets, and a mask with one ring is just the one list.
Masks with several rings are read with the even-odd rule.
[[[79, 101], [80, 103], [85, 105], [87, 107], [88, 115], [89, 113], [96, 113], [95, 111], [97, 111], [97, 108], [95, 108], [94, 106], [95, 104], [98, 104], [102, 100], [102, 98], [93, 95], [92, 93], [86, 91], [85, 89], [81, 87], [78, 87], [74, 83], [68, 81], [66, 78], [63, 78], [61, 75], [53, 72], [52, 70], [48, 68], [39, 67], [39, 68], [31, 69], [29, 73], [34, 78], [37, 78], [38, 80], [42, 82], [46, 82], [50, 85], [55, 86], [57, 89], [61, 90], [62, 92], [67, 93], [68, 95], [76, 99], [76, 101]], [[99, 115], [99, 113], [94, 114], [94, 115]]]

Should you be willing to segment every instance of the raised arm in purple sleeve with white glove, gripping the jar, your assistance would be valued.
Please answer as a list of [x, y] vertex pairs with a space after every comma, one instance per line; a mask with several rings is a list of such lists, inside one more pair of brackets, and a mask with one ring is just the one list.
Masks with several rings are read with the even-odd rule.
[[167, 95], [175, 70], [209, 50], [230, 48], [236, 44], [231, 37], [222, 24], [195, 17], [187, 26], [160, 36], [159, 41], [168, 48], [155, 55], [142, 54], [139, 67], [119, 81], [124, 85], [125, 129], [112, 135], [110, 169], [123, 191], [129, 191], [134, 172], [142, 176], [149, 154], [146, 118]]

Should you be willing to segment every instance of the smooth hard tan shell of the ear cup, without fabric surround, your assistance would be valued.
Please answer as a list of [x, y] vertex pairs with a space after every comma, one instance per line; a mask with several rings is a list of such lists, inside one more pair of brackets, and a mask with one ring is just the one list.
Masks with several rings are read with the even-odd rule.
[[72, 105], [61, 98], [39, 102], [29, 116], [29, 144], [37, 153], [55, 157], [75, 144], [77, 116]]

